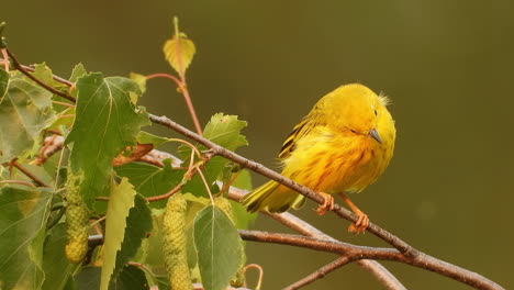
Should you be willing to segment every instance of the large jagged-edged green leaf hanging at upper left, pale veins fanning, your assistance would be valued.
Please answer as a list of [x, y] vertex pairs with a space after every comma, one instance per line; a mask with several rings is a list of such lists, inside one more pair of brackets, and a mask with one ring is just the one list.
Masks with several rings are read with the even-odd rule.
[[77, 115], [66, 143], [74, 143], [70, 168], [83, 171], [80, 192], [91, 208], [96, 197], [109, 192], [112, 159], [136, 144], [141, 126], [149, 121], [131, 101], [130, 92], [139, 89], [130, 79], [89, 74], [79, 78], [77, 90]]

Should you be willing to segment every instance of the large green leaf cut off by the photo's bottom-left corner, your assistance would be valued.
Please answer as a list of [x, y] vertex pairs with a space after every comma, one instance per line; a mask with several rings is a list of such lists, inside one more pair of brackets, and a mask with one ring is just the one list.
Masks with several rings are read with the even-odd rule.
[[43, 285], [41, 257], [52, 192], [0, 189], [0, 285], [37, 289]]

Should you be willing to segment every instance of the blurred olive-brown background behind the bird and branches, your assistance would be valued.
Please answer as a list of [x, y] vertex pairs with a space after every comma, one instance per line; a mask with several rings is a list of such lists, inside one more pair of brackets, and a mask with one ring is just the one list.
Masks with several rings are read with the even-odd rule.
[[[277, 168], [283, 138], [316, 100], [359, 81], [391, 97], [394, 158], [354, 201], [372, 222], [429, 255], [514, 287], [514, 9], [503, 1], [14, 1], [3, 0], [9, 46], [24, 64], [68, 76], [170, 72], [161, 45], [171, 19], [197, 44], [188, 70], [203, 124], [215, 112], [248, 121], [241, 153]], [[152, 80], [148, 111], [192, 127], [171, 82]], [[170, 135], [158, 127], [155, 132]], [[264, 182], [256, 177], [255, 183]], [[347, 222], [297, 212], [326, 233], [362, 245]], [[267, 217], [255, 228], [286, 231]], [[279, 289], [336, 257], [248, 243], [248, 263]], [[410, 289], [468, 289], [383, 263]], [[355, 265], [305, 289], [380, 289]]]

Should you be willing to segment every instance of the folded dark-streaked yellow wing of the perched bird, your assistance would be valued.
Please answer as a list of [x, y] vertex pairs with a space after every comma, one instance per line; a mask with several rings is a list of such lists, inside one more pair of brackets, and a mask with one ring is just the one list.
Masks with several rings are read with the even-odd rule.
[[286, 159], [295, 149], [295, 145], [300, 138], [309, 134], [314, 127], [322, 124], [322, 111], [320, 105], [316, 105], [312, 111], [303, 118], [303, 120], [294, 126], [293, 131], [289, 134], [282, 144], [280, 149], [279, 158]]

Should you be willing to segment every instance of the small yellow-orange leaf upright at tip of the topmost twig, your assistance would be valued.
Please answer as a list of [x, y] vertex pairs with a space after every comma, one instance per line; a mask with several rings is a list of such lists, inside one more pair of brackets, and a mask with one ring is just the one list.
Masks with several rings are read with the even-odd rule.
[[175, 18], [175, 35], [166, 41], [163, 52], [169, 65], [179, 74], [183, 75], [188, 69], [197, 52], [194, 43], [178, 29], [178, 19]]

